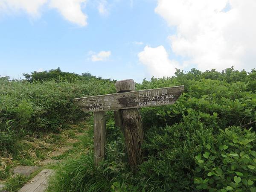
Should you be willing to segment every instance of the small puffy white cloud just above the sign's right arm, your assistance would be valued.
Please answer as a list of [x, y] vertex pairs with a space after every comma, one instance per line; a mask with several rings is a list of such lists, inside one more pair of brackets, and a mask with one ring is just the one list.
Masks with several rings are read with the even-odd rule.
[[173, 76], [176, 69], [180, 68], [179, 63], [170, 60], [168, 53], [163, 46], [148, 47], [138, 54], [139, 60], [144, 64], [151, 76], [160, 78], [163, 76]]

